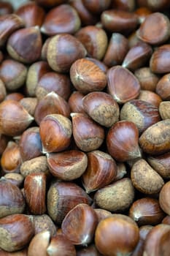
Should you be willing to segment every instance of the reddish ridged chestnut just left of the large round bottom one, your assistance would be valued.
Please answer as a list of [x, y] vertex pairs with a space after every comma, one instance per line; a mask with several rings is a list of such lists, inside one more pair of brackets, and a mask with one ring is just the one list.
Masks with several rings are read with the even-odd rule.
[[85, 246], [92, 241], [97, 223], [94, 209], [88, 204], [80, 203], [66, 214], [61, 230], [72, 244]]

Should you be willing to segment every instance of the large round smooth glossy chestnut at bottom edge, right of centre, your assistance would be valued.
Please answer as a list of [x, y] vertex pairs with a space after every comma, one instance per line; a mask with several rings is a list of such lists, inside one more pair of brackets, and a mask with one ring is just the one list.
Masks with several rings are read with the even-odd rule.
[[96, 227], [95, 244], [102, 255], [131, 254], [138, 241], [139, 227], [123, 214], [112, 214]]

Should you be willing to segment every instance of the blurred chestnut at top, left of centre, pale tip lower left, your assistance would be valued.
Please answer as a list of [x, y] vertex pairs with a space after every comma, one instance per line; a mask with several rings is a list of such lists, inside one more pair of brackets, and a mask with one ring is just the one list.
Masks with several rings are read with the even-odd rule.
[[60, 4], [47, 12], [41, 32], [48, 36], [61, 33], [74, 34], [80, 26], [81, 20], [77, 10], [69, 4]]

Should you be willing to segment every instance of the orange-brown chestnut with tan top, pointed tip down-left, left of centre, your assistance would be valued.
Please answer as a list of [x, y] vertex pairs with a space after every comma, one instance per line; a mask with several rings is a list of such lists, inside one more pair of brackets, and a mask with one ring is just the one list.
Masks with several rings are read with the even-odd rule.
[[72, 137], [72, 122], [61, 114], [50, 114], [39, 125], [42, 152], [58, 152], [69, 147]]

